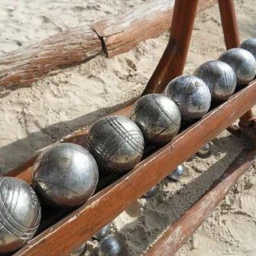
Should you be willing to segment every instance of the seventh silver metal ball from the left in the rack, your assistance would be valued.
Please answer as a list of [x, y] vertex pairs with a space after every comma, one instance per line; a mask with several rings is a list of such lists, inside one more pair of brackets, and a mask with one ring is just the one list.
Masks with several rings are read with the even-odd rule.
[[227, 63], [235, 72], [238, 85], [250, 83], [256, 74], [256, 60], [245, 49], [232, 48], [219, 56], [218, 60]]

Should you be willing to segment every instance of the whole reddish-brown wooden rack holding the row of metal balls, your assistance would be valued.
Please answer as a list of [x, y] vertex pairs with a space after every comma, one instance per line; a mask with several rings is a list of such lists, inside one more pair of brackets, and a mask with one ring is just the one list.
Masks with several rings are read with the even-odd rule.
[[[177, 0], [175, 2], [170, 42], [143, 94], [163, 92], [164, 86], [170, 79], [183, 73], [198, 5], [199, 0]], [[239, 38], [234, 2], [232, 0], [220, 0], [219, 8], [226, 47], [238, 47]], [[171, 72], [169, 72], [170, 70]], [[48, 212], [37, 235], [28, 245], [13, 255], [69, 255], [100, 228], [112, 222], [152, 186], [167, 177], [170, 170], [183, 164], [204, 144], [211, 141], [226, 128], [234, 134], [249, 134], [251, 135], [251, 143], [256, 142], [255, 125], [250, 110], [256, 104], [255, 96], [256, 81], [254, 80], [222, 105], [212, 107], [211, 111], [199, 122], [190, 127], [183, 127], [180, 134], [164, 147], [148, 148], [144, 160], [134, 170], [122, 177], [115, 176], [109, 177], [109, 180], [101, 180], [96, 194], [79, 209], [65, 210], [58, 214]], [[130, 109], [131, 105], [128, 105], [112, 115], [128, 116]], [[235, 129], [232, 126], [232, 123], [238, 118], [240, 118], [241, 129]], [[88, 131], [89, 128], [85, 128], [65, 141], [85, 146]], [[144, 252], [144, 255], [175, 254], [215, 209], [215, 206], [228, 193], [238, 178], [250, 167], [255, 156], [255, 147], [241, 151], [241, 154], [232, 162], [222, 177], [212, 185], [210, 190], [188, 209], [180, 220], [168, 228], [155, 245]], [[31, 183], [31, 167], [35, 158], [11, 170], [5, 176], [18, 177]], [[50, 217], [50, 215], [52, 216]]]

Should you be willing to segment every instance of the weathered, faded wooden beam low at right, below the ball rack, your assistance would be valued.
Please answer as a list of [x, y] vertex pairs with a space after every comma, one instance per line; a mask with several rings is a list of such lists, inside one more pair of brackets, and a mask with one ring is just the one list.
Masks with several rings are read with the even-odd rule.
[[225, 197], [239, 177], [251, 166], [256, 156], [256, 148], [241, 151], [238, 157], [206, 194], [162, 235], [144, 253], [144, 256], [172, 256], [184, 245], [196, 229], [209, 217], [211, 212]]

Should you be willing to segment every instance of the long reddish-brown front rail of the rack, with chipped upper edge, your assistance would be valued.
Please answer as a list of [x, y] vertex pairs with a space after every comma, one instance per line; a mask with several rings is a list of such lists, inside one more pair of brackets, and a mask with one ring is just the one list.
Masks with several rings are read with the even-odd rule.
[[[173, 141], [147, 157], [120, 180], [96, 193], [65, 219], [32, 239], [15, 256], [69, 255], [100, 228], [112, 222], [152, 186], [167, 177], [171, 170], [189, 159], [204, 144], [251, 109], [256, 104], [255, 95], [256, 81], [213, 109], [195, 125], [181, 132]], [[123, 113], [128, 110], [129, 108], [124, 109]], [[84, 134], [87, 134], [87, 131], [84, 130]], [[79, 138], [76, 142], [79, 142]], [[27, 169], [24, 173], [31, 175], [30, 171]]]

